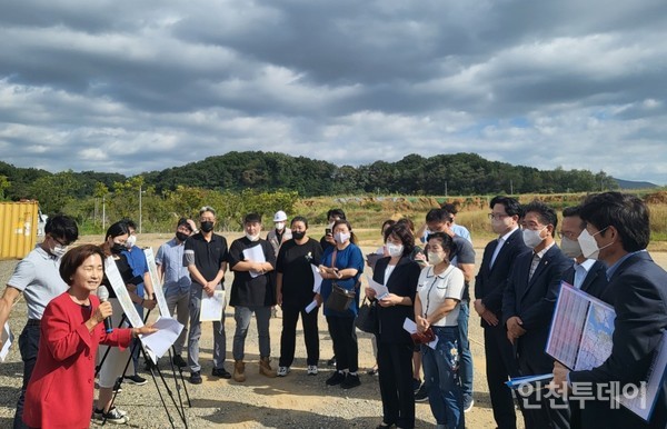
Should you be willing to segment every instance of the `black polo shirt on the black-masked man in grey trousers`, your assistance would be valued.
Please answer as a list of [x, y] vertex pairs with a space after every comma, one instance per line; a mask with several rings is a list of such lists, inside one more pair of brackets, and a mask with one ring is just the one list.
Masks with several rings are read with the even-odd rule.
[[[226, 262], [229, 252], [227, 250], [227, 239], [213, 233], [211, 241], [206, 241], [201, 232], [186, 240], [183, 249], [183, 266], [188, 266], [189, 258], [195, 256], [195, 266], [207, 281], [211, 281], [218, 276], [220, 266]], [[190, 276], [190, 279], [196, 280]]]

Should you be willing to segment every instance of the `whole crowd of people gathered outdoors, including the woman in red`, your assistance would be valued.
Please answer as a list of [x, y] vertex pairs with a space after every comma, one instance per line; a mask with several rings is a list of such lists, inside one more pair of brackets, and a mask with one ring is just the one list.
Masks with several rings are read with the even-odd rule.
[[[475, 405], [468, 341], [472, 308], [484, 330], [488, 391], [498, 428], [516, 428], [517, 409], [529, 429], [666, 428], [665, 380], [648, 421], [618, 407], [611, 396], [577, 398], [583, 383], [595, 392], [597, 386], [618, 383], [623, 390], [646, 381], [667, 330], [667, 272], [646, 251], [650, 233], [646, 204], [619, 192], [593, 194], [580, 206], [566, 208], [560, 222], [554, 208], [537, 200], [520, 204], [498, 196], [489, 209], [497, 238], [485, 247], [476, 270], [470, 233], [456, 223], [451, 204], [430, 210], [417, 230], [409, 219], [385, 221], [382, 246], [372, 260], [365, 259], [352, 223], [340, 209], [327, 213], [329, 225], [319, 241], [309, 237], [308, 219], [302, 216], [293, 217], [288, 227], [287, 214], [278, 211], [263, 236], [261, 216], [248, 213], [243, 236], [228, 246], [216, 232], [216, 210], [203, 207], [199, 223], [180, 219], [175, 238], [156, 255], [169, 311], [186, 327], [173, 345], [172, 362], [189, 370], [191, 383], [202, 382], [202, 299], [225, 291], [236, 322], [233, 367], [226, 367], [222, 311], [220, 320], [212, 322], [212, 377], [246, 381], [245, 345], [252, 316], [260, 375], [289, 375], [300, 317], [307, 373], [317, 376], [321, 309], [334, 346], [329, 362], [335, 366], [325, 383], [354, 389], [361, 385], [356, 322], [364, 295], [372, 309], [376, 367], [369, 373], [378, 375], [380, 388], [378, 428], [414, 428], [415, 402], [428, 400], [438, 428], [462, 429], [466, 412]], [[17, 266], [0, 300], [0, 325], [20, 292], [29, 312], [19, 338], [24, 371], [14, 428], [53, 427], [53, 418], [60, 426], [87, 427], [91, 416], [125, 423], [127, 412], [112, 400], [119, 380], [146, 382], [137, 373], [140, 347], [133, 347], [132, 353], [131, 345], [155, 329], [127, 327], [103, 270], [103, 261], [111, 257], [138, 312], [156, 307], [158, 286], [151, 283], [143, 252], [136, 246], [136, 227], [119, 221], [101, 246], [68, 251], [77, 239], [71, 218], [50, 218], [43, 242]], [[385, 293], [361, 288], [361, 275], [369, 268], [374, 283], [384, 286]], [[229, 288], [228, 270], [233, 273]], [[575, 371], [545, 352], [564, 281], [616, 311], [611, 355], [599, 367]], [[91, 293], [100, 285], [109, 289], [107, 302]], [[272, 368], [269, 323], [276, 306], [281, 308], [282, 331], [278, 365]], [[101, 325], [104, 318], [119, 329], [107, 332]], [[93, 405], [96, 355], [106, 358]], [[529, 392], [517, 393], [506, 383], [544, 373], [552, 373], [551, 383]], [[57, 407], [50, 395], [56, 387], [72, 398], [80, 395], [78, 401], [83, 398], [91, 412]]]

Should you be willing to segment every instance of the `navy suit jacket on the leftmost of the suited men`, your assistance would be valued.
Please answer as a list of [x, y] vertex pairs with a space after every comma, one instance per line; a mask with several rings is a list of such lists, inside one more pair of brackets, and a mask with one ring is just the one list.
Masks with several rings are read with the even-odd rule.
[[[521, 229], [517, 228], [500, 248], [496, 261], [491, 267], [491, 258], [494, 257], [497, 246], [498, 239], [495, 239], [489, 241], [484, 249], [481, 266], [475, 278], [475, 298], [481, 299], [484, 306], [501, 320], [502, 293], [505, 292], [505, 286], [507, 285], [507, 277], [509, 276], [511, 266], [517, 256], [530, 249], [524, 243]], [[481, 326], [488, 327], [489, 323], [481, 319]]]

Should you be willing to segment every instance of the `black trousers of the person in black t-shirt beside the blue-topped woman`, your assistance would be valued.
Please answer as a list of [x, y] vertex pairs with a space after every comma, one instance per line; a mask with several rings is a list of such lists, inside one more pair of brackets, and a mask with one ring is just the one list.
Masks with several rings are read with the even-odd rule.
[[295, 348], [297, 347], [297, 321], [301, 316], [301, 326], [303, 327], [303, 341], [306, 342], [307, 365], [315, 365], [319, 361], [319, 331], [317, 327], [317, 317], [319, 307], [309, 313], [301, 307], [282, 306], [282, 333], [280, 333], [280, 367], [291, 367], [295, 360]]

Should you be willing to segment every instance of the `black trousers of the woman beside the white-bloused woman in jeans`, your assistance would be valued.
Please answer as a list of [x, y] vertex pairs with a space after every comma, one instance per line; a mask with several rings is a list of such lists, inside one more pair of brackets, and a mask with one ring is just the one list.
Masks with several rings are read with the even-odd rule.
[[415, 427], [411, 343], [378, 341], [378, 377], [382, 421], [399, 428]]

